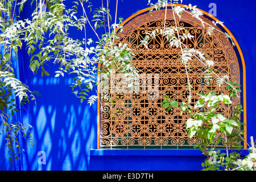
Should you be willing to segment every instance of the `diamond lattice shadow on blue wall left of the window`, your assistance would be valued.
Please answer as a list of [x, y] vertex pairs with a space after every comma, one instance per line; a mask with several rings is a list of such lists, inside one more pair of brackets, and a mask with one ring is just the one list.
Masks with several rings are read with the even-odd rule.
[[[28, 74], [29, 75], [29, 74]], [[23, 170], [86, 170], [89, 166], [90, 109], [72, 94], [71, 79], [28, 76], [25, 82], [42, 97], [23, 110], [32, 125], [34, 146], [23, 154]]]

